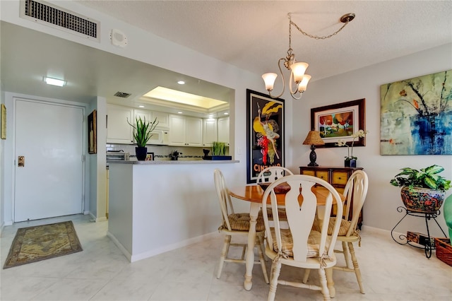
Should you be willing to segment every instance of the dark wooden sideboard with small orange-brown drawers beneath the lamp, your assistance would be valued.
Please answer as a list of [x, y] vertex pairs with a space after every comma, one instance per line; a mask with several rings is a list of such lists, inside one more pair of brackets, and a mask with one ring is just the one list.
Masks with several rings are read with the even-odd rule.
[[[300, 175], [311, 175], [314, 177], [319, 177], [324, 179], [326, 182], [333, 185], [333, 187], [343, 193], [345, 185], [347, 184], [348, 178], [352, 175], [355, 170], [362, 170], [362, 167], [337, 167], [337, 166], [300, 166]], [[353, 203], [353, 199], [352, 199]], [[345, 204], [348, 206], [349, 204]], [[352, 206], [352, 204], [350, 204]], [[353, 208], [353, 207], [351, 207]], [[345, 208], [344, 208], [345, 210]], [[333, 209], [333, 214], [335, 209]], [[352, 210], [350, 210], [350, 218], [352, 217]], [[362, 211], [359, 213], [358, 227], [361, 229], [362, 226]]]

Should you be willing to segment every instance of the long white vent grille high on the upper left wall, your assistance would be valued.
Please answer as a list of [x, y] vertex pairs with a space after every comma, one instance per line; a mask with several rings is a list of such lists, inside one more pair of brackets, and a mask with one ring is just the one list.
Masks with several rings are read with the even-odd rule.
[[100, 42], [99, 21], [66, 11], [53, 4], [46, 4], [44, 1], [20, 1], [20, 17]]

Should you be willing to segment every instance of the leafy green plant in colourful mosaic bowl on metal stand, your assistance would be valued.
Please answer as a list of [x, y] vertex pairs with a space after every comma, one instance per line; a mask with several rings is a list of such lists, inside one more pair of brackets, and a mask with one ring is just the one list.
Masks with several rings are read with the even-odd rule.
[[438, 175], [442, 171], [444, 167], [439, 165], [421, 170], [405, 167], [390, 183], [402, 187], [400, 196], [409, 211], [436, 213], [444, 202], [445, 191], [451, 187], [450, 179]]

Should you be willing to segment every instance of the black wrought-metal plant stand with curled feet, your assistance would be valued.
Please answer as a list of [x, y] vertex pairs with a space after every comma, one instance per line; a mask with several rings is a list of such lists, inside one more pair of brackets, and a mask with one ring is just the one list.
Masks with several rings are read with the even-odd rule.
[[[394, 226], [393, 230], [391, 230], [391, 237], [393, 237], [394, 242], [397, 242], [398, 244], [409, 244], [412, 247], [417, 247], [420, 249], [424, 249], [425, 252], [425, 256], [427, 258], [432, 257], [432, 249], [435, 249], [435, 244], [432, 244], [432, 237], [430, 237], [430, 231], [429, 231], [429, 223], [428, 221], [430, 219], [433, 219], [436, 223], [436, 225], [438, 225], [439, 229], [441, 229], [441, 232], [443, 232], [444, 237], [446, 237], [446, 233], [444, 232], [444, 230], [441, 228], [441, 226], [439, 225], [438, 221], [436, 220], [436, 218], [441, 214], [441, 211], [436, 211], [436, 212], [417, 212], [417, 211], [410, 211], [407, 208], [405, 208], [404, 206], [399, 206], [397, 207], [397, 211], [402, 213], [403, 211], [405, 211], [405, 216], [403, 216], [403, 218], [401, 218], [398, 223]], [[425, 242], [425, 245], [421, 245], [421, 244], [416, 244], [415, 242], [410, 242], [408, 240], [408, 237], [406, 237], [406, 235], [398, 235], [398, 240], [396, 240], [396, 238], [394, 238], [393, 235], [393, 231], [394, 229], [396, 229], [396, 227], [398, 226], [398, 224], [400, 224], [400, 222], [402, 222], [402, 220], [404, 218], [406, 218], [407, 216], [417, 216], [418, 218], [425, 218], [425, 226], [427, 228], [427, 241]]]

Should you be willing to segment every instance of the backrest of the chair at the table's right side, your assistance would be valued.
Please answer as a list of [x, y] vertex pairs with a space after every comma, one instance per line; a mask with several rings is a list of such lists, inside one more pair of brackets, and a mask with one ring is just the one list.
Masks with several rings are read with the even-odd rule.
[[[350, 236], [357, 228], [359, 213], [366, 200], [368, 187], [369, 178], [367, 177], [367, 173], [362, 170], [353, 172], [345, 185], [343, 194], [346, 197], [346, 206], [343, 218], [350, 221], [350, 228], [345, 236]], [[353, 206], [350, 206], [351, 203], [353, 203]], [[350, 217], [351, 207], [352, 216]]]

